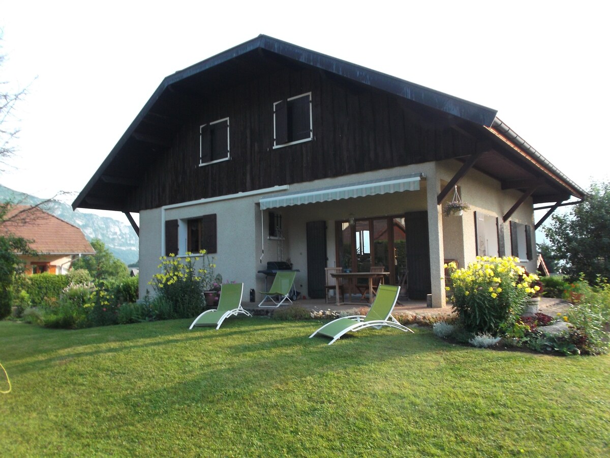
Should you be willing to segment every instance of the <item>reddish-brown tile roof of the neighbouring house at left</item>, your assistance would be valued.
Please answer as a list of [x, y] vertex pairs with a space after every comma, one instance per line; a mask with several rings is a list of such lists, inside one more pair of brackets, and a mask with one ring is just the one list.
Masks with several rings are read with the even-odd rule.
[[0, 225], [0, 233], [12, 233], [33, 240], [30, 247], [40, 253], [93, 254], [95, 250], [81, 229], [40, 208], [16, 205]]

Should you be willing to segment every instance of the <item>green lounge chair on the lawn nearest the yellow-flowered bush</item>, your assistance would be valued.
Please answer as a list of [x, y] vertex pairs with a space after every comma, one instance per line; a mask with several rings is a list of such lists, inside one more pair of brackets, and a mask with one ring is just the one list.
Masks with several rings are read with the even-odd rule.
[[404, 332], [413, 332], [411, 329], [400, 324], [392, 316], [392, 310], [398, 299], [400, 286], [379, 285], [375, 302], [371, 305], [367, 315], [346, 316], [345, 318], [337, 318], [323, 325], [320, 329], [314, 332], [309, 338], [316, 334], [331, 337], [329, 345], [334, 343], [343, 334], [350, 331], [359, 331], [368, 327], [380, 329], [381, 326], [390, 326], [400, 329]]

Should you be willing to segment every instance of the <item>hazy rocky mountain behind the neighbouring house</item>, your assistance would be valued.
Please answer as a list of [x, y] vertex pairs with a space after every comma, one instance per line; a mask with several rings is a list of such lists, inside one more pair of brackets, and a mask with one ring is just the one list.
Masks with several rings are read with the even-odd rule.
[[[45, 201], [39, 197], [13, 191], [0, 184], [0, 202], [10, 202], [20, 205], [36, 205]], [[134, 264], [138, 261], [138, 236], [134, 228], [127, 222], [92, 213], [73, 211], [67, 203], [50, 200], [40, 206], [47, 213], [51, 213], [64, 221], [81, 228], [87, 240], [100, 239], [106, 248], [125, 264]], [[125, 219], [127, 221], [127, 218]]]

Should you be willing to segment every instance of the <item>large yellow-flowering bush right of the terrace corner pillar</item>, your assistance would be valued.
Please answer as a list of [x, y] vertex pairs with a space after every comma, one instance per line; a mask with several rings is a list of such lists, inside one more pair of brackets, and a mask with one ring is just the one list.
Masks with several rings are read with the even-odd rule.
[[530, 286], [537, 275], [527, 274], [518, 261], [510, 256], [477, 256], [463, 269], [456, 269], [454, 263], [447, 266], [453, 309], [467, 332], [498, 335], [519, 318], [526, 297], [539, 291], [538, 286]]

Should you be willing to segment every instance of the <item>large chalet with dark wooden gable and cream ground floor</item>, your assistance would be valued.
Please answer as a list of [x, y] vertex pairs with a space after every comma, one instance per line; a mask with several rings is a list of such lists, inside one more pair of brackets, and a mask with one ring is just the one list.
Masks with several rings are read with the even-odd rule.
[[[443, 216], [455, 186], [471, 210]], [[73, 208], [140, 214], [140, 294], [205, 248], [246, 291], [267, 261], [309, 297], [376, 265], [440, 307], [445, 260], [536, 271], [534, 204], [584, 195], [492, 109], [260, 35], [165, 78]]]

